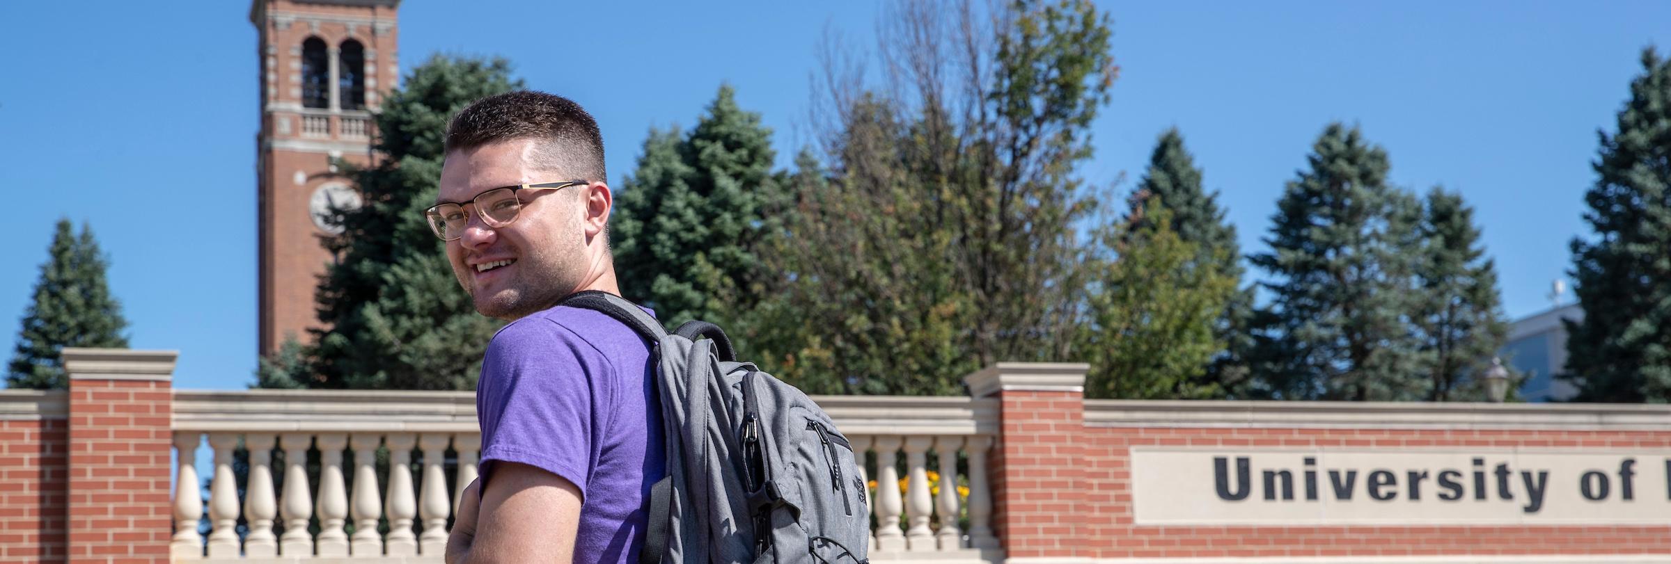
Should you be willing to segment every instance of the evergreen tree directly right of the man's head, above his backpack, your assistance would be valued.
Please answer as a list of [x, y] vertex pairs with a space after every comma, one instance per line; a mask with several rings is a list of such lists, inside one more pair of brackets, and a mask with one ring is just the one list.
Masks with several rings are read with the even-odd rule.
[[670, 327], [730, 327], [770, 282], [759, 250], [782, 200], [772, 132], [720, 87], [690, 133], [650, 132], [610, 227], [622, 294]]

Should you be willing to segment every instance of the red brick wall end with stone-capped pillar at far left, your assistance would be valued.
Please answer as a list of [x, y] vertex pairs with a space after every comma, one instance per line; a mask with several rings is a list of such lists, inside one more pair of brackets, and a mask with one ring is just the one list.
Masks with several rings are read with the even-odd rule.
[[0, 562], [167, 562], [174, 352], [63, 349], [0, 390]]

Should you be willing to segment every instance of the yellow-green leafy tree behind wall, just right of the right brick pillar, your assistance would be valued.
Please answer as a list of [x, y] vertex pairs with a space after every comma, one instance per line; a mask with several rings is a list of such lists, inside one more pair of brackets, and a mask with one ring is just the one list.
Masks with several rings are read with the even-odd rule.
[[1086, 397], [1208, 399], [1223, 395], [1206, 377], [1225, 340], [1215, 320], [1238, 294], [1222, 269], [1223, 247], [1185, 240], [1176, 215], [1150, 192], [1131, 199], [1130, 217], [1100, 230], [1113, 260], [1093, 260], [1101, 272], [1086, 297], [1088, 322], [1074, 350], [1091, 364]]

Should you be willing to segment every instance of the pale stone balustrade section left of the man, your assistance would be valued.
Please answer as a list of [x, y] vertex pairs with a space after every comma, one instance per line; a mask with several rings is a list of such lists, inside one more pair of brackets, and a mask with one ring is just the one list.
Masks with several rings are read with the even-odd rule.
[[[468, 392], [182, 390], [174, 400], [174, 434], [177, 484], [201, 484], [194, 462], [204, 436], [214, 449], [207, 504], [192, 496], [194, 486], [180, 486], [172, 506], [170, 554], [207, 562], [441, 562], [458, 492], [446, 484], [444, 456], [456, 451], [458, 474], [468, 482], [481, 446]], [[249, 451], [242, 499], [232, 474], [239, 446]], [[312, 459], [317, 489], [307, 476], [309, 447], [319, 451]], [[414, 447], [423, 452], [418, 461]], [[379, 449], [389, 461], [386, 484], [376, 467]], [[284, 456], [282, 477], [274, 476], [274, 452]], [[353, 452], [351, 467], [344, 467], [346, 452]], [[206, 509], [207, 537], [199, 534]], [[242, 537], [234, 529], [239, 517], [249, 524]], [[378, 532], [379, 521], [388, 534]], [[309, 522], [317, 522], [317, 536], [307, 532]]]

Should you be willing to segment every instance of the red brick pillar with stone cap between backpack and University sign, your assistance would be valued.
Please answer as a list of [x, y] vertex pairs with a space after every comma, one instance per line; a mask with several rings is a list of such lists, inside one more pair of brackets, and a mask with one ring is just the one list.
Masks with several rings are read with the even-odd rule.
[[1086, 364], [998, 362], [964, 377], [976, 399], [999, 400], [993, 529], [1009, 561], [1086, 552], [1088, 487], [1081, 466]]

